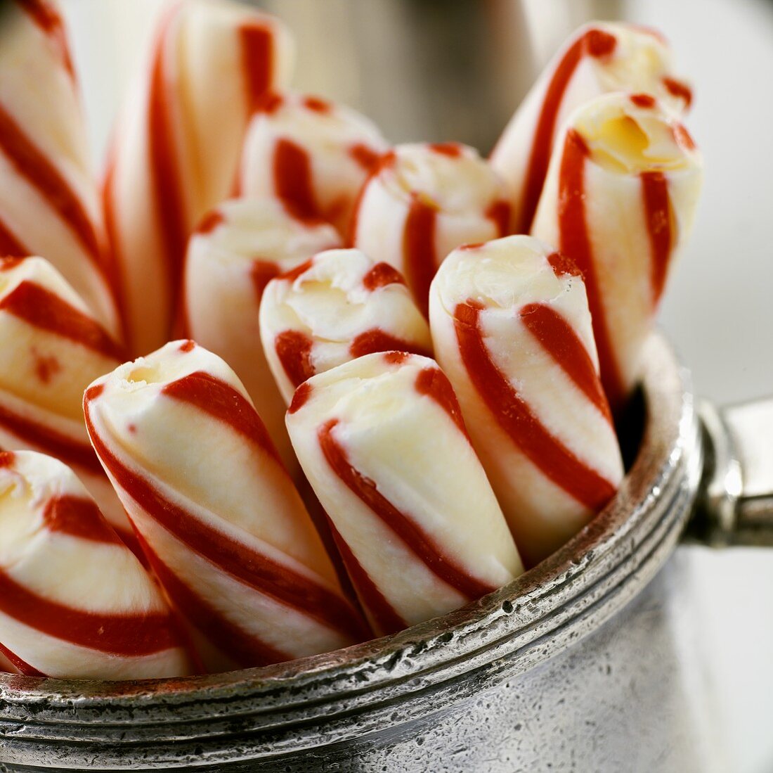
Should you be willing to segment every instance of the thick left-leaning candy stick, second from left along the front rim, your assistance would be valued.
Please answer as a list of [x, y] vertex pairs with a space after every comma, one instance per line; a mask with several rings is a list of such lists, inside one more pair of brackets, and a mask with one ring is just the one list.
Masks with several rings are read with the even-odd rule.
[[175, 341], [94, 382], [91, 442], [206, 667], [367, 638], [233, 371]]

